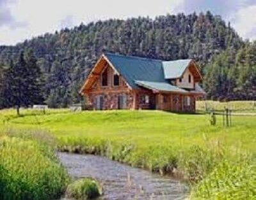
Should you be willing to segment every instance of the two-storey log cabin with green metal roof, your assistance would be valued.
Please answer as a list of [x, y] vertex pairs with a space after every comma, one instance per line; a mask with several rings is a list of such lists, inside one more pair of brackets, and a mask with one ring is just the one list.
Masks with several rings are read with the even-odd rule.
[[161, 61], [106, 53], [99, 57], [80, 93], [93, 110], [195, 112], [196, 99], [205, 96], [201, 81], [192, 59]]

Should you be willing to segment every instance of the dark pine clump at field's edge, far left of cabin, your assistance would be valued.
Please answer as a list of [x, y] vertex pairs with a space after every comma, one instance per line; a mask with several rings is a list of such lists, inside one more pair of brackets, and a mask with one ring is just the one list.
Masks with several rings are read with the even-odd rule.
[[40, 90], [40, 71], [36, 67], [36, 59], [29, 53], [28, 61], [24, 59], [24, 52], [20, 52], [19, 60], [6, 69], [4, 75], [4, 101], [8, 106], [16, 106], [17, 115], [20, 107], [28, 107], [42, 101]]

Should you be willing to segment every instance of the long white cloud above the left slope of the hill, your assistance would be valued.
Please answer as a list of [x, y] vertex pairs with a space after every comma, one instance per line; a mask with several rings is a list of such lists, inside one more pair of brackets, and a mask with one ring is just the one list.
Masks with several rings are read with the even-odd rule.
[[[0, 0], [1, 1], [1, 0]], [[24, 39], [54, 32], [65, 25], [72, 27], [81, 22], [127, 18], [138, 16], [165, 15], [173, 13], [183, 0], [20, 0], [9, 4], [12, 17], [26, 26], [11, 29], [0, 26], [0, 45], [14, 45]]]

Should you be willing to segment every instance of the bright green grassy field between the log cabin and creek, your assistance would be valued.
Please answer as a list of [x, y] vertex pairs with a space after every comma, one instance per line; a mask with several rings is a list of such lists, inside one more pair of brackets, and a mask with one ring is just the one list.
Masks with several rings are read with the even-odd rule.
[[[232, 117], [232, 127], [208, 115], [163, 111], [0, 111], [3, 129], [51, 132], [59, 150], [99, 154], [131, 166], [174, 173], [191, 183], [191, 198], [256, 196], [256, 118]], [[0, 122], [0, 123], [1, 123]]]

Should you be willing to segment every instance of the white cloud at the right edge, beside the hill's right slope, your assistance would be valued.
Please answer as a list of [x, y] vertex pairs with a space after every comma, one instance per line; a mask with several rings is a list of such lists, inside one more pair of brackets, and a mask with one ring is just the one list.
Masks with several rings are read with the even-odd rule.
[[256, 5], [237, 11], [234, 28], [243, 38], [256, 39]]

